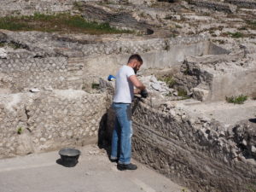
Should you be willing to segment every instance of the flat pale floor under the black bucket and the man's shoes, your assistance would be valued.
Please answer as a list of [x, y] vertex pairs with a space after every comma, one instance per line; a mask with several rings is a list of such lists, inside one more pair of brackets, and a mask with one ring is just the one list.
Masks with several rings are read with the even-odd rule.
[[[120, 172], [95, 145], [79, 148], [74, 167], [56, 163], [58, 151], [0, 160], [1, 192], [180, 192], [184, 188], [132, 160], [137, 171]], [[189, 191], [185, 189], [185, 191]]]

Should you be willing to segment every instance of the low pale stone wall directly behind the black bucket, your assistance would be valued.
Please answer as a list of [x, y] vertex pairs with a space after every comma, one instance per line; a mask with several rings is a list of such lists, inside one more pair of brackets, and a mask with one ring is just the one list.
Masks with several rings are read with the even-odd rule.
[[0, 158], [96, 143], [106, 95], [54, 90], [0, 95]]

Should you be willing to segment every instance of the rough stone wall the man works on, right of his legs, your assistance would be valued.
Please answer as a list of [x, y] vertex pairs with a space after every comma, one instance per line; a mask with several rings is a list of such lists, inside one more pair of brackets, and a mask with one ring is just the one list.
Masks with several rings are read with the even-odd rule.
[[255, 182], [255, 123], [224, 128], [142, 102], [134, 106], [133, 122], [133, 156], [193, 191], [247, 191]]

